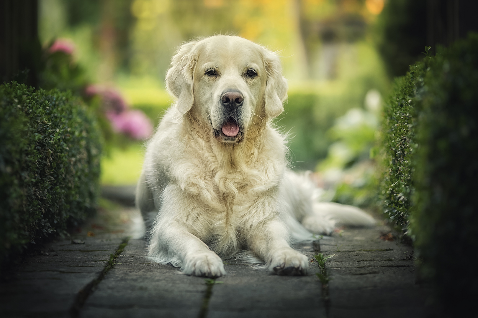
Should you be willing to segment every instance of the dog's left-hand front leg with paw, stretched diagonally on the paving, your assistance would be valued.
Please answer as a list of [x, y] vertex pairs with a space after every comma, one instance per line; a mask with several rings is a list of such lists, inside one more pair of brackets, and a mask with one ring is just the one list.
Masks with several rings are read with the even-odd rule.
[[180, 267], [187, 275], [219, 277], [226, 274], [221, 258], [174, 221], [157, 220], [154, 224], [148, 256], [159, 263]]

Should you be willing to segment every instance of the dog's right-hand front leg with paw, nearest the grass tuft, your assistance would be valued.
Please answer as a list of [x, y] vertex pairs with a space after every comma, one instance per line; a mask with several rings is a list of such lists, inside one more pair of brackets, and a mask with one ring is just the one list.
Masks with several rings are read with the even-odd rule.
[[254, 228], [250, 235], [252, 252], [266, 262], [277, 275], [306, 275], [307, 256], [289, 246], [286, 226], [279, 220], [268, 221]]

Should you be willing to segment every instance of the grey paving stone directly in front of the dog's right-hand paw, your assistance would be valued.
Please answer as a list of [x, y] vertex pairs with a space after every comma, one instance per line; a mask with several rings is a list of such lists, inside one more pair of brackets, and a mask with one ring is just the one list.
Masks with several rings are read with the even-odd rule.
[[[309, 259], [315, 255], [311, 243], [295, 247]], [[302, 277], [229, 264], [225, 265], [227, 275], [220, 278], [224, 283], [213, 287], [207, 317], [325, 317], [321, 285], [315, 276], [317, 263], [310, 262], [308, 275]]]

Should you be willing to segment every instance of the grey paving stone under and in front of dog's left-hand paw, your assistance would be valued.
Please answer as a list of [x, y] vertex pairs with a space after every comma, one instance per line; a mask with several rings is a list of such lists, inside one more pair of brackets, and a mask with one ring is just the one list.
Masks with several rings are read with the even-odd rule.
[[146, 258], [145, 241], [130, 240], [116, 266], [88, 298], [80, 317], [197, 317], [204, 278]]

